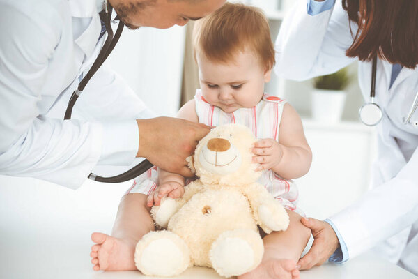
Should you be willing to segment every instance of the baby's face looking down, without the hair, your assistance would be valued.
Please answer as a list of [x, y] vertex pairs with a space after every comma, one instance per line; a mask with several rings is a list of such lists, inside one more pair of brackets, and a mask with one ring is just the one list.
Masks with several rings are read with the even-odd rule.
[[231, 113], [240, 107], [254, 107], [263, 98], [264, 84], [271, 70], [265, 71], [253, 52], [239, 52], [227, 63], [210, 61], [197, 53], [203, 98]]

